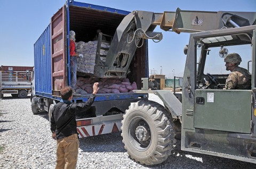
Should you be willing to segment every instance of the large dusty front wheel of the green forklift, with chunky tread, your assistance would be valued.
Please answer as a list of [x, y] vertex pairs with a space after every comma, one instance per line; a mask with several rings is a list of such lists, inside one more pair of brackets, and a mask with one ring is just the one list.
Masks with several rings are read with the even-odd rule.
[[173, 130], [166, 109], [141, 100], [131, 103], [122, 120], [124, 148], [130, 158], [143, 165], [162, 163], [173, 149]]

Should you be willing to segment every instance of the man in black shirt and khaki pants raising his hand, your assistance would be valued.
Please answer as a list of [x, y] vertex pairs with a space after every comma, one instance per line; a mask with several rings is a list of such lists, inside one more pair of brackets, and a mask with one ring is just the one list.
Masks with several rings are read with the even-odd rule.
[[94, 102], [99, 83], [93, 84], [93, 92], [86, 103], [71, 103], [72, 88], [61, 89], [61, 100], [54, 105], [51, 117], [52, 138], [57, 140], [55, 168], [76, 168], [79, 140], [76, 129], [76, 113], [86, 111]]

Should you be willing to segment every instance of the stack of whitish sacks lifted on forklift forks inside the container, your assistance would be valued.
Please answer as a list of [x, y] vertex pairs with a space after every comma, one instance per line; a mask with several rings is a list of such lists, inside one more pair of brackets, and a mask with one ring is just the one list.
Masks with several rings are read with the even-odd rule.
[[[84, 55], [82, 59], [77, 57], [77, 71], [83, 73], [92, 73], [95, 66], [95, 57], [97, 51], [98, 41], [89, 41], [85, 43], [84, 41], [79, 41], [76, 43], [76, 52]], [[107, 55], [109, 43], [101, 43], [101, 47], [106, 48], [100, 49], [100, 55]], [[106, 57], [100, 57], [102, 62], [106, 62]]]

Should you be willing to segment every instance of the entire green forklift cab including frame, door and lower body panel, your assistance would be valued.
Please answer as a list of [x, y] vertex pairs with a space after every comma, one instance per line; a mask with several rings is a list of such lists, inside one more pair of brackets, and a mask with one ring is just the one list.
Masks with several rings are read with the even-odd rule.
[[[241, 152], [232, 146], [245, 145], [239, 139], [256, 140], [255, 33], [256, 26], [191, 33], [183, 77], [182, 150], [226, 154], [230, 146], [228, 154], [235, 157]], [[230, 74], [224, 62], [228, 53], [241, 56], [239, 66], [252, 77], [250, 90], [223, 89]]]

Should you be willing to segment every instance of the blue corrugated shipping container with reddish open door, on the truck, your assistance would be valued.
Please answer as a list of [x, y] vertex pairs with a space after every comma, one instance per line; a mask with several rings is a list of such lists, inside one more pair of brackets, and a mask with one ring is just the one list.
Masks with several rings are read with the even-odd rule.
[[[90, 41], [97, 29], [114, 36], [115, 30], [128, 11], [116, 10], [80, 2], [64, 5], [53, 15], [51, 23], [34, 44], [36, 95], [61, 99], [60, 89], [70, 85], [69, 40], [70, 30], [76, 32], [76, 41]], [[148, 77], [148, 45], [138, 48], [130, 65], [131, 82], [141, 89], [141, 78]], [[139, 72], [139, 73], [137, 73]], [[141, 94], [98, 94], [95, 101], [138, 98]], [[142, 97], [145, 97], [143, 95]], [[87, 96], [79, 98], [86, 101]], [[76, 100], [76, 99], [75, 99]]]

